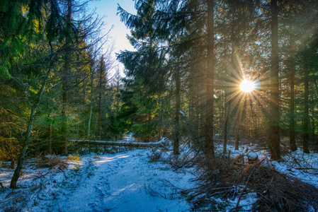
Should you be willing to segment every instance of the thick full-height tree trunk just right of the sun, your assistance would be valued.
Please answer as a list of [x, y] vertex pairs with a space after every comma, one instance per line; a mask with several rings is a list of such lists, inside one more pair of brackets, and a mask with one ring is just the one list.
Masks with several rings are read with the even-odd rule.
[[278, 6], [271, 0], [271, 95], [269, 149], [271, 160], [280, 160], [280, 116], [279, 116], [279, 56], [278, 56]]

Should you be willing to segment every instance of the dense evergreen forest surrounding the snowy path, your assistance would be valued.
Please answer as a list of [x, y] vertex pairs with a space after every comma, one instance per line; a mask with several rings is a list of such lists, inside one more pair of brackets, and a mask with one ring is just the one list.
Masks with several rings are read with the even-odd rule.
[[[221, 211], [215, 198], [232, 195], [238, 211], [250, 191], [259, 198], [251, 211], [317, 210], [317, 182], [266, 164], [318, 173], [308, 159], [318, 158], [318, 1], [135, 0], [136, 13], [118, 4], [135, 51], [116, 58], [89, 2], [1, 0], [0, 166], [13, 169], [9, 189], [19, 189], [30, 158], [101, 153], [104, 141], [130, 135], [149, 146], [167, 139], [152, 159], [169, 149], [176, 169], [197, 167], [199, 186], [181, 192], [193, 211]], [[97, 142], [104, 147], [91, 148]], [[251, 149], [255, 163], [233, 155]]]

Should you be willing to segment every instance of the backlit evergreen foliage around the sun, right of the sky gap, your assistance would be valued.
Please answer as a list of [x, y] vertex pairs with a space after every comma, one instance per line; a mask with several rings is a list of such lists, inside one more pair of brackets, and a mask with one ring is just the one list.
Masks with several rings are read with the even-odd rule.
[[[293, 89], [304, 93], [291, 98], [288, 57], [293, 55], [296, 62], [293, 65], [296, 81], [298, 77], [314, 78], [315, 69], [311, 67], [317, 64], [315, 50], [312, 49], [311, 56], [304, 53], [317, 40], [317, 27], [312, 25], [316, 19], [315, 6], [301, 1], [136, 1], [136, 15], [118, 6], [121, 20], [131, 30], [129, 40], [136, 49], [118, 55], [127, 69], [126, 90], [134, 90], [135, 95], [138, 90], [150, 91], [149, 95], [157, 92], [159, 95], [152, 102], [164, 96], [174, 105], [169, 111], [169, 123], [174, 123], [169, 131], [175, 141], [181, 127], [178, 111], [182, 110], [195, 123], [192, 142], [209, 143], [210, 134], [223, 134], [223, 153], [227, 152], [227, 140], [235, 140], [238, 148], [240, 142], [253, 138], [267, 144], [271, 158], [279, 160], [280, 139], [293, 138], [295, 134], [304, 138], [306, 150], [307, 135], [314, 135], [317, 126], [315, 106], [310, 102], [315, 99], [310, 88], [316, 88], [310, 86], [310, 81], [308, 85], [304, 82], [305, 90], [302, 84], [297, 84]], [[212, 10], [215, 13], [209, 15]], [[214, 22], [209, 26], [211, 18]], [[209, 46], [213, 49], [209, 50]], [[207, 72], [209, 69], [212, 72]], [[257, 83], [251, 94], [239, 90], [244, 78]], [[215, 87], [209, 87], [213, 83]], [[181, 93], [177, 85], [181, 86]], [[142, 93], [142, 105], [135, 104], [137, 110], [132, 110], [135, 116], [140, 114], [138, 108], [146, 105]], [[208, 100], [211, 93], [212, 99]], [[297, 99], [304, 101], [294, 102]], [[286, 111], [290, 104], [295, 104], [293, 113]], [[295, 114], [297, 110], [304, 114]], [[152, 112], [147, 112], [159, 117], [155, 111], [158, 110], [152, 107]], [[133, 120], [135, 124], [139, 121]], [[286, 127], [290, 135], [286, 134]], [[292, 140], [290, 148], [295, 151], [296, 142]], [[317, 146], [317, 141], [311, 143]]]

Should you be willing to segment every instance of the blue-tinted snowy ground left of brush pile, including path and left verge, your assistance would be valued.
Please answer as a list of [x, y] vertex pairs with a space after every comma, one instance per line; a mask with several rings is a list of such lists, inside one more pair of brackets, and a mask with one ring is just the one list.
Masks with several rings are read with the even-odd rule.
[[[29, 169], [18, 182], [23, 189], [16, 189], [15, 194], [7, 189], [13, 171], [2, 169], [0, 182], [6, 189], [0, 193], [0, 211], [190, 211], [177, 194], [177, 188], [191, 187], [189, 170], [149, 163], [147, 154], [151, 153], [143, 149], [86, 155], [70, 161], [66, 172]], [[3, 202], [19, 198], [17, 202], [23, 205]]]

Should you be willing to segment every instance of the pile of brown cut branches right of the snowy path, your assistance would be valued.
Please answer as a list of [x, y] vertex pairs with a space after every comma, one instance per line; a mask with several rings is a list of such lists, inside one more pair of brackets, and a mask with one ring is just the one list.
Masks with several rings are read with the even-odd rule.
[[196, 174], [197, 187], [186, 191], [195, 211], [239, 211], [246, 198], [253, 200], [251, 211], [318, 210], [317, 187], [278, 172], [267, 160], [241, 164], [236, 158], [215, 157], [201, 160]]

